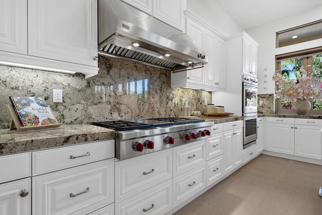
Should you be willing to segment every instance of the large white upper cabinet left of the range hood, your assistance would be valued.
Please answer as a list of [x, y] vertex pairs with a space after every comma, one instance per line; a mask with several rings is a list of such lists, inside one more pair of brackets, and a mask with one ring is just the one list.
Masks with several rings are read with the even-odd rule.
[[97, 1], [2, 0], [0, 12], [1, 64], [97, 75]]

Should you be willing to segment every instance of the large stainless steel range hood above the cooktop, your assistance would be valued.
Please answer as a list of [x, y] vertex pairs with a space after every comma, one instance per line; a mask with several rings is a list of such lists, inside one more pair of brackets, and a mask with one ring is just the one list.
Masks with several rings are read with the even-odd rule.
[[119, 0], [98, 3], [99, 54], [172, 71], [208, 62], [208, 56], [185, 33]]

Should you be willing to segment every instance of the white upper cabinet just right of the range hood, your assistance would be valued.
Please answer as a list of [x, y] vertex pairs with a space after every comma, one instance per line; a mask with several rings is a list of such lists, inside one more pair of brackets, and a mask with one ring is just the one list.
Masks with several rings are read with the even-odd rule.
[[203, 68], [172, 73], [172, 88], [192, 88], [208, 91], [226, 90], [225, 37], [200, 18], [186, 12], [186, 34], [208, 55]]

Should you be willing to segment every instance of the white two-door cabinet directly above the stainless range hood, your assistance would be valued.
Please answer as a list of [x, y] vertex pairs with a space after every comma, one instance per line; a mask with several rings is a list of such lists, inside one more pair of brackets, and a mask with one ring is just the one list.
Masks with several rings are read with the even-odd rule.
[[154, 18], [185, 31], [187, 0], [121, 0]]

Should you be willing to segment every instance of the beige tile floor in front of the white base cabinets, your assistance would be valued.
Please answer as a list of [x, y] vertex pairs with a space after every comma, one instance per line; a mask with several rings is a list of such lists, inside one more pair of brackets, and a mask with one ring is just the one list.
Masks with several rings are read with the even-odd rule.
[[322, 166], [260, 155], [175, 215], [320, 215]]

